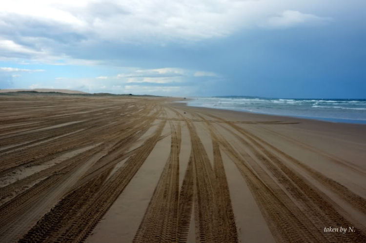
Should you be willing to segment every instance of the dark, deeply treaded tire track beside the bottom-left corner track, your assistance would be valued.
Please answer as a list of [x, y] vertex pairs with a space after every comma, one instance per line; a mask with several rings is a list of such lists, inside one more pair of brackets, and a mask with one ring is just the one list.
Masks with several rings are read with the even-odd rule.
[[[70, 193], [51, 212], [47, 213], [20, 241], [80, 242], [84, 240], [141, 167], [161, 136], [165, 123], [161, 122], [154, 136], [146, 141], [145, 150], [142, 153], [137, 153], [130, 157], [124, 166], [119, 168], [106, 182], [102, 183], [100, 189], [93, 189], [95, 193], [91, 194], [85, 194], [83, 190], [75, 190]], [[98, 180], [98, 177], [88, 183], [93, 183], [96, 180]], [[77, 204], [81, 198], [81, 207], [70, 218], [61, 222], [50, 220], [65, 213], [68, 206], [64, 207], [63, 205]], [[52, 229], [55, 230], [52, 231], [51, 235], [45, 235], [43, 228], [49, 227], [48, 225], [50, 224]]]

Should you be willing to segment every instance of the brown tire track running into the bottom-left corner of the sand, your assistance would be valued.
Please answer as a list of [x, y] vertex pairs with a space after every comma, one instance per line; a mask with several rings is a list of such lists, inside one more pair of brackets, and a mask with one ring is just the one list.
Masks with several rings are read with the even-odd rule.
[[[102, 154], [98, 151], [86, 160], [69, 166], [63, 174], [54, 174], [14, 200], [0, 207], [0, 238], [13, 242], [24, 234], [42, 215], [57, 203], [68, 187], [75, 183], [87, 168], [96, 162]], [[60, 183], [63, 181], [63, 183]]]

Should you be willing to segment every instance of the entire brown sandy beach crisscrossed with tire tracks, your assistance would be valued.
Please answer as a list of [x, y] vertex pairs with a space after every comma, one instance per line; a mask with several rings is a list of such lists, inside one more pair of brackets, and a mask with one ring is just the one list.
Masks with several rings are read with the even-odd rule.
[[0, 242], [366, 242], [366, 125], [172, 100], [0, 96]]

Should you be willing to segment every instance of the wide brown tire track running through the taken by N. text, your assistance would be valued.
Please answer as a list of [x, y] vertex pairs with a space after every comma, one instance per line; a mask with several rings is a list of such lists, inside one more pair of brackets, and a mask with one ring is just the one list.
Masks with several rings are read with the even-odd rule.
[[[264, 166], [271, 173], [273, 173], [278, 182], [283, 184], [284, 188], [290, 193], [291, 197], [294, 198], [294, 200], [301, 205], [306, 217], [309, 218], [311, 222], [313, 222], [315, 225], [317, 225], [318, 231], [323, 230], [324, 227], [328, 227], [328, 225], [337, 225], [339, 227], [342, 225], [355, 225], [359, 229], [357, 234], [341, 236], [334, 234], [325, 234], [325, 237], [327, 237], [329, 242], [339, 241], [340, 238], [343, 239], [342, 241], [352, 240], [353, 242], [362, 242], [366, 240], [364, 226], [362, 224], [351, 218], [345, 212], [345, 210], [339, 207], [323, 192], [313, 186], [296, 171], [287, 167], [278, 157], [266, 150], [251, 136], [255, 137], [256, 139], [259, 139], [258, 137], [253, 134], [250, 134], [251, 136], [249, 136], [246, 134], [247, 131], [245, 131], [243, 128], [236, 127], [236, 125], [233, 126], [235, 126], [235, 128], [237, 128], [236, 130], [244, 135], [245, 138], [248, 139], [248, 141], [250, 141], [251, 143], [246, 142], [243, 138], [235, 134], [233, 131], [225, 128], [224, 126], [223, 127], [234, 136], [236, 136], [239, 141], [241, 141], [246, 147], [248, 147], [256, 155], [256, 157], [261, 162], [263, 162]], [[263, 153], [263, 155], [261, 153]], [[267, 178], [266, 181], [270, 181], [269, 177], [265, 175], [266, 173], [261, 168], [261, 166], [255, 164], [254, 160], [251, 160], [251, 158], [249, 157], [248, 155], [246, 155], [246, 161], [250, 162], [250, 165], [252, 166], [252, 168], [254, 168], [256, 173], [261, 176], [262, 180]]]

